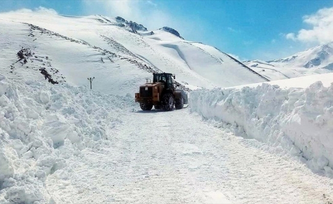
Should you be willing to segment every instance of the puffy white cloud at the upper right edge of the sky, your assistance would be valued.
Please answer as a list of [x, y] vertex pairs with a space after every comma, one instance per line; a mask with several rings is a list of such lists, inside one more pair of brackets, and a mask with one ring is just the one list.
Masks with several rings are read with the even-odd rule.
[[333, 41], [333, 7], [318, 10], [315, 14], [303, 16], [303, 22], [312, 29], [301, 29], [297, 34], [289, 33], [285, 37], [301, 42], [327, 43]]

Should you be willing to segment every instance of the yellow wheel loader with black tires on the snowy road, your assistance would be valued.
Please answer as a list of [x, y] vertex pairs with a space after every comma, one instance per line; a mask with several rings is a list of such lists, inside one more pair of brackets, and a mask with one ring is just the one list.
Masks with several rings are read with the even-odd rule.
[[135, 93], [135, 102], [140, 104], [144, 111], [162, 109], [171, 111], [184, 108], [188, 104], [187, 94], [184, 90], [176, 89], [176, 76], [172, 73], [153, 73], [153, 82], [146, 79], [146, 84], [141, 85], [139, 93]]

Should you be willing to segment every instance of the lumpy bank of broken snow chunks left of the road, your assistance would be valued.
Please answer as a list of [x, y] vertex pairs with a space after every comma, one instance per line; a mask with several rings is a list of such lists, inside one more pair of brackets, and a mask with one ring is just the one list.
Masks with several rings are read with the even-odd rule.
[[45, 181], [68, 179], [66, 159], [99, 148], [133, 104], [128, 96], [0, 74], [0, 203], [54, 203]]

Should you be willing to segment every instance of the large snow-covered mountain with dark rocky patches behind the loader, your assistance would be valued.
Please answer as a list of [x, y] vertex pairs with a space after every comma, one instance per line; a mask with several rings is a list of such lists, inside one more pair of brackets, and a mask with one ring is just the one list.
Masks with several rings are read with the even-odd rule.
[[267, 81], [216, 48], [184, 40], [172, 28], [148, 31], [122, 17], [11, 12], [0, 14], [0, 25], [7, 28], [0, 31], [0, 70], [12, 78], [43, 72], [55, 82], [82, 86], [95, 77], [93, 89], [122, 95], [133, 94], [152, 72], [161, 71], [175, 73], [184, 89]]

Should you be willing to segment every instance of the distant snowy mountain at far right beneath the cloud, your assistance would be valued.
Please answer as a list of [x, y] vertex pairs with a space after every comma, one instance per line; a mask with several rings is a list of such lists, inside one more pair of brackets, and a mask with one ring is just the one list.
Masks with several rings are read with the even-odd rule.
[[245, 65], [270, 80], [282, 80], [333, 71], [333, 42], [271, 61], [253, 60]]

